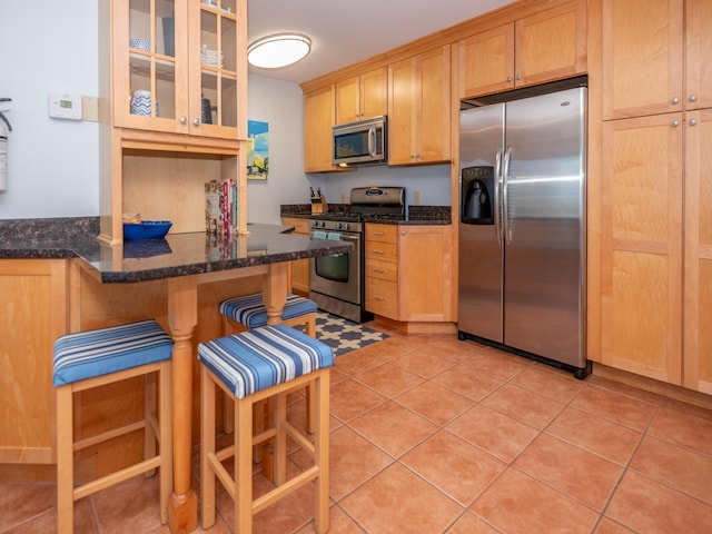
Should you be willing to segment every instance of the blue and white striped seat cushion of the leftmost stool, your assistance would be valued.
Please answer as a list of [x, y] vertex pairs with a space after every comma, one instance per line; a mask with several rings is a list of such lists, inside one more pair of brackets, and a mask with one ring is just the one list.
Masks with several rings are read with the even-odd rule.
[[55, 386], [170, 359], [174, 342], [154, 319], [60, 336]]

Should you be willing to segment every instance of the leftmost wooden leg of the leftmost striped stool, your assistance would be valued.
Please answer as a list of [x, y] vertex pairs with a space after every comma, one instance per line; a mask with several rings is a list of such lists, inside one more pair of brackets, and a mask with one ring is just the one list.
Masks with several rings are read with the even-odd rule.
[[71, 534], [75, 525], [73, 406], [71, 385], [57, 388], [57, 532]]

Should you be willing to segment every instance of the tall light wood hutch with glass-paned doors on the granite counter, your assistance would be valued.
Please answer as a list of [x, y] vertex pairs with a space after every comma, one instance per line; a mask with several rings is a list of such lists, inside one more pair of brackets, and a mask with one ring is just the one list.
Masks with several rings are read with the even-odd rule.
[[122, 243], [125, 212], [170, 220], [171, 233], [205, 231], [205, 182], [227, 178], [246, 231], [246, 4], [100, 2], [102, 240]]

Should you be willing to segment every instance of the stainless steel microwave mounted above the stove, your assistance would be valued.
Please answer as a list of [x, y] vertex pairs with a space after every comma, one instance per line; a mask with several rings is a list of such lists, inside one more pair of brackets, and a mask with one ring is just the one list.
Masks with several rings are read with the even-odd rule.
[[386, 116], [332, 127], [334, 165], [377, 165], [388, 161]]

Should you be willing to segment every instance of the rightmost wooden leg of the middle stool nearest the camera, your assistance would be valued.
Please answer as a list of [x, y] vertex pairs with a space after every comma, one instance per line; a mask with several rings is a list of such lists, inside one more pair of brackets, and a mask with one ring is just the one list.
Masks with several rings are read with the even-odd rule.
[[316, 383], [316, 419], [315, 464], [319, 468], [316, 479], [315, 523], [318, 534], [329, 530], [329, 369], [319, 370], [312, 384]]

